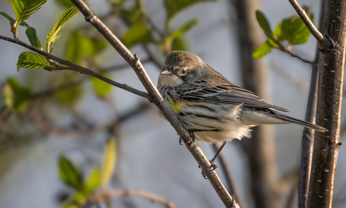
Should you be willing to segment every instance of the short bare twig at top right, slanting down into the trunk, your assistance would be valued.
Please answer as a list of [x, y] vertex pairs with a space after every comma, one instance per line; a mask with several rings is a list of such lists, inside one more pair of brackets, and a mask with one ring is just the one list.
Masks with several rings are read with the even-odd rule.
[[299, 17], [303, 20], [304, 24], [307, 26], [307, 28], [310, 30], [313, 37], [317, 39], [317, 41], [321, 42], [324, 40], [324, 36], [322, 33], [315, 27], [315, 25], [312, 23], [310, 18], [308, 17], [307, 13], [304, 11], [303, 8], [299, 5], [299, 3], [296, 0], [288, 0], [294, 10], [298, 13]]

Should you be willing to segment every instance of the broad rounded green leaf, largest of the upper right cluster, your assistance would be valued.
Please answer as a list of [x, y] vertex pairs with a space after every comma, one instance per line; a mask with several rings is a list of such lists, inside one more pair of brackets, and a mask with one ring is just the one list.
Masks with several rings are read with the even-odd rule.
[[[308, 14], [311, 21], [313, 16]], [[309, 40], [311, 33], [299, 16], [293, 16], [282, 20], [281, 38], [291, 44], [303, 44]]]

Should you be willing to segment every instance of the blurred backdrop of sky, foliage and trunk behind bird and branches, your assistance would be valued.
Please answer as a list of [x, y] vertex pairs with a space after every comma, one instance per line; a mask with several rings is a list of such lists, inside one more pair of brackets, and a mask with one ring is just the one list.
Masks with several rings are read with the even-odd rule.
[[[261, 9], [275, 28], [283, 18], [297, 15], [288, 1], [252, 1], [245, 10], [244, 4], [233, 0], [195, 1], [182, 9], [176, 2], [164, 0], [87, 2], [131, 52], [139, 55], [155, 85], [166, 55], [172, 50], [187, 50], [231, 82], [288, 109], [288, 115], [304, 119], [311, 66], [275, 49], [261, 59], [246, 59], [266, 40], [255, 10]], [[320, 1], [299, 3], [309, 8], [318, 25]], [[70, 6], [67, 0], [48, 0], [26, 20], [37, 30], [42, 45], [54, 22]], [[9, 2], [1, 1], [0, 8], [15, 17]], [[0, 35], [13, 37], [9, 26], [9, 21], [0, 16]], [[29, 43], [24, 27], [19, 26], [17, 35]], [[1, 207], [67, 207], [76, 190], [62, 180], [61, 155], [87, 178], [94, 167], [104, 165], [105, 146], [110, 139], [116, 141], [117, 148], [112, 162], [114, 172], [106, 186], [109, 190], [142, 190], [169, 200], [176, 207], [224, 207], [154, 104], [72, 71], [21, 68], [17, 72], [18, 56], [28, 50], [4, 40], [0, 40], [0, 48]], [[63, 26], [51, 48], [55, 56], [145, 91], [133, 69], [85, 22], [81, 13]], [[292, 46], [292, 53], [312, 61], [315, 39], [310, 37], [307, 43]], [[255, 72], [249, 69], [250, 62]], [[8, 86], [29, 94], [29, 98], [16, 106], [6, 105], [4, 89]], [[342, 122], [341, 141], [345, 140], [345, 129]], [[226, 144], [221, 153], [242, 207], [297, 207], [302, 131], [301, 126], [293, 124], [254, 128], [253, 138]], [[257, 137], [262, 139], [256, 140]], [[211, 159], [215, 154], [213, 145], [199, 144]], [[345, 207], [346, 203], [345, 158], [345, 148], [340, 148], [335, 208]], [[225, 167], [219, 159], [215, 164], [229, 188]], [[93, 191], [98, 192], [99, 187]], [[112, 207], [164, 207], [138, 196], [120, 196], [110, 201]], [[84, 207], [95, 205], [84, 202]], [[101, 207], [106, 205], [101, 203]]]

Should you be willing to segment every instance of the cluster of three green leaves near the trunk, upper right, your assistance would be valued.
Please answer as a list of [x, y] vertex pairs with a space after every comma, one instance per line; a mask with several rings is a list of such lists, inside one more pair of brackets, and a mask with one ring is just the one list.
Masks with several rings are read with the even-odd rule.
[[[309, 18], [313, 22], [313, 16], [308, 13]], [[274, 31], [264, 13], [260, 10], [256, 11], [256, 18], [264, 34], [268, 37], [261, 46], [256, 48], [252, 56], [261, 58], [268, 54], [273, 48], [289, 51], [292, 45], [304, 44], [308, 41], [311, 33], [299, 16], [292, 16], [281, 20]], [[287, 41], [288, 46], [284, 48], [282, 41]]]

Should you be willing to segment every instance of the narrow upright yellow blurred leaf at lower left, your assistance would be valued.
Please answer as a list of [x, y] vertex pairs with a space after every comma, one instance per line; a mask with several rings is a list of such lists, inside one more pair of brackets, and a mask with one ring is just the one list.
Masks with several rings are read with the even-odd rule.
[[101, 187], [104, 188], [109, 183], [117, 161], [117, 143], [114, 138], [108, 140], [103, 156], [102, 172], [101, 172]]

